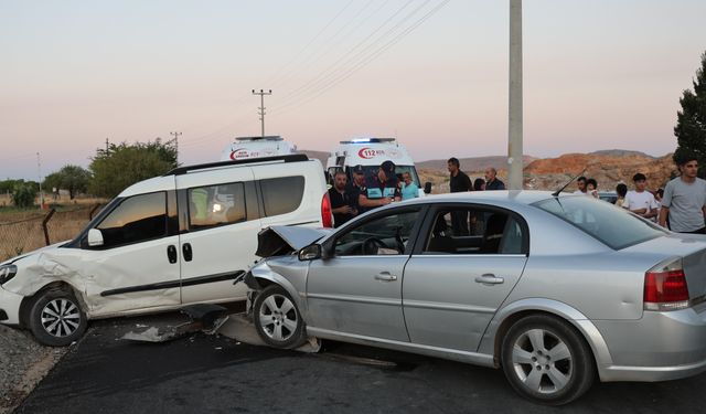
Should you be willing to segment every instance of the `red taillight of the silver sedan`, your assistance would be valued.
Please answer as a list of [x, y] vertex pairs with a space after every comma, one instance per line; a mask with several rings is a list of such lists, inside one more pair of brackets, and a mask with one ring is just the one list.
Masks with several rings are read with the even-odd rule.
[[688, 286], [681, 258], [661, 263], [644, 274], [643, 301], [646, 310], [688, 308]]

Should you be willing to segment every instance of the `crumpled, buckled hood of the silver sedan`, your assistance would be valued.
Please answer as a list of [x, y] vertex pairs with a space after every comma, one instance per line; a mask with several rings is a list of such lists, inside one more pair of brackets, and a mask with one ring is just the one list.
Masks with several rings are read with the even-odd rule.
[[312, 229], [297, 225], [274, 225], [257, 234], [256, 255], [284, 256], [331, 234], [331, 229]]

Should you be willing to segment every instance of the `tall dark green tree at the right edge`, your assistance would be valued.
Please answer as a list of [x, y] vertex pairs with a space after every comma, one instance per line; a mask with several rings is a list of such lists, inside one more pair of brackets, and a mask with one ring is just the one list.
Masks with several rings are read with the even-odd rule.
[[685, 89], [680, 104], [682, 109], [676, 114], [677, 148], [674, 160], [684, 156], [695, 156], [702, 168], [698, 177], [706, 178], [706, 52], [702, 54], [702, 66], [696, 71], [693, 81], [694, 91]]

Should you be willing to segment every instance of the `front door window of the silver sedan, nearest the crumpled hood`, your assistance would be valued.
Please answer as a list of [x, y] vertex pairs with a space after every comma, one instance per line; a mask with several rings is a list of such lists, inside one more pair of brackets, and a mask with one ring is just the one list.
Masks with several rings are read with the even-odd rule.
[[336, 238], [335, 255], [404, 254], [419, 219], [419, 210], [406, 210], [359, 224]]

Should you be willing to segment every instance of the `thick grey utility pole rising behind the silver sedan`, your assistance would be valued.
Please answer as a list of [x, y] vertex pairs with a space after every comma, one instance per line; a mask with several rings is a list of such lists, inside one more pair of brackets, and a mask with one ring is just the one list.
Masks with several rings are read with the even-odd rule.
[[522, 0], [510, 0], [507, 181], [510, 190], [522, 190], [524, 184], [522, 150]]

